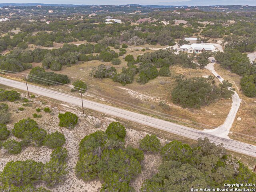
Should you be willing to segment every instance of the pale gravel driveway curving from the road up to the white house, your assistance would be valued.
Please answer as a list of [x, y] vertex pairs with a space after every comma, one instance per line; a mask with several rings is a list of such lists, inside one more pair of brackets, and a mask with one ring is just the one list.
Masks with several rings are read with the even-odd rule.
[[[209, 58], [209, 60], [212, 60], [212, 59], [214, 58], [213, 57]], [[219, 76], [219, 74], [214, 69], [214, 63], [208, 64], [207, 66], [205, 66], [205, 68], [210, 70], [210, 72], [212, 72], [214, 76], [216, 77]], [[218, 80], [220, 80], [220, 82], [223, 82], [224, 79], [220, 77], [218, 78]], [[241, 99], [239, 98], [237, 92], [234, 92], [234, 94], [232, 95], [232, 106], [224, 123], [215, 129], [206, 129], [204, 130], [204, 132], [210, 133], [215, 136], [223, 137], [223, 138], [229, 138], [228, 134], [236, 118], [236, 113], [238, 112], [240, 103], [241, 103]]]

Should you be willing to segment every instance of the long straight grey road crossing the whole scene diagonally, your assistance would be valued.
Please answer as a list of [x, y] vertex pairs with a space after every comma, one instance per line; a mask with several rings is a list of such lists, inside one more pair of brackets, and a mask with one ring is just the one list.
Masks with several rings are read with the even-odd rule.
[[[6, 79], [3, 77], [0, 77], [0, 84], [10, 86], [13, 88], [17, 88], [20, 90], [26, 90], [25, 83], [18, 82], [15, 80]], [[53, 91], [50, 89], [46, 89], [46, 88], [42, 88], [40, 86], [34, 86], [34, 85], [30, 85], [30, 84], [28, 84], [28, 89], [30, 90], [30, 92], [32, 92], [34, 94], [39, 94], [39, 95], [42, 95], [42, 96], [45, 96], [48, 98], [52, 98], [52, 99], [56, 99], [56, 100], [59, 100], [62, 102], [74, 104], [77, 106], [82, 106], [81, 99], [79, 97], [71, 96], [68, 94], [64, 94], [61, 92]], [[215, 142], [216, 144], [223, 143], [224, 147], [229, 150], [233, 150], [233, 151], [236, 151], [236, 152], [239, 152], [242, 154], [256, 157], [256, 146], [252, 146], [250, 144], [234, 141], [234, 140], [227, 139], [227, 138], [221, 138], [221, 137], [209, 134], [209, 133], [202, 132], [200, 130], [195, 130], [192, 128], [188, 128], [186, 126], [174, 124], [172, 122], [167, 122], [164, 120], [160, 120], [160, 119], [153, 118], [150, 116], [138, 114], [138, 113], [131, 112], [128, 110], [108, 106], [105, 104], [100, 104], [100, 103], [93, 102], [90, 100], [83, 100], [83, 102], [84, 102], [84, 106], [86, 108], [89, 108], [89, 109], [92, 109], [92, 110], [95, 110], [98, 112], [102, 112], [102, 113], [116, 116], [119, 118], [124, 118], [126, 120], [144, 124], [146, 126], [151, 126], [151, 127], [154, 127], [154, 128], [160, 129], [160, 130], [165, 130], [165, 131], [171, 132], [173, 134], [177, 134], [177, 135], [184, 136], [186, 138], [190, 138], [190, 139], [194, 139], [194, 140], [196, 140], [198, 138], [208, 137], [212, 142]]]

